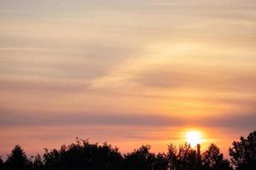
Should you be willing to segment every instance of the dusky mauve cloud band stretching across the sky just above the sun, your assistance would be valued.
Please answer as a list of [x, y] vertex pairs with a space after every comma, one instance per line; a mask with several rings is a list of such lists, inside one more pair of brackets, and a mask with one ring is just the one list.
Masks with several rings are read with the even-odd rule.
[[237, 114], [225, 116], [177, 117], [156, 115], [127, 115], [127, 114], [86, 114], [59, 113], [44, 115], [25, 111], [9, 111], [1, 109], [1, 127], [47, 127], [47, 126], [120, 126], [120, 127], [224, 127], [224, 128], [255, 128], [256, 116], [251, 114]]

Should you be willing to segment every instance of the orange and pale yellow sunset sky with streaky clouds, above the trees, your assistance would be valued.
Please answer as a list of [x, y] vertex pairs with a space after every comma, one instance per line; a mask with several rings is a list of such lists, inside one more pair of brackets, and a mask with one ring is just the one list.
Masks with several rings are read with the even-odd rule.
[[0, 0], [0, 156], [76, 137], [155, 152], [256, 129], [255, 0]]

